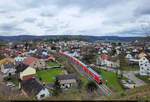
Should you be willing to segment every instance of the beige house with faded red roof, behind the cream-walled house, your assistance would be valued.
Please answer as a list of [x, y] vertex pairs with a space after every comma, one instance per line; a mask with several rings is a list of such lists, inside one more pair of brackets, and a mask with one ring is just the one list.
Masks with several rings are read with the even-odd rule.
[[46, 67], [46, 63], [43, 59], [37, 59], [32, 56], [25, 58], [23, 63], [35, 69], [44, 69]]

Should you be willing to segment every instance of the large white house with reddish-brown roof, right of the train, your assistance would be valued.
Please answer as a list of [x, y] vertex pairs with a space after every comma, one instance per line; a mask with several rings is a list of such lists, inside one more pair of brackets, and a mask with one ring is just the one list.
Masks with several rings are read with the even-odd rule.
[[102, 55], [97, 58], [97, 65], [116, 68], [119, 67], [119, 60], [108, 55]]

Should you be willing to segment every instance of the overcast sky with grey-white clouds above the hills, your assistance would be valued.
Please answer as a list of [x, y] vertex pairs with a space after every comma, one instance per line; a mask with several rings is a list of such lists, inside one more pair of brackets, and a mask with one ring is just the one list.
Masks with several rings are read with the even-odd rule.
[[150, 0], [0, 0], [0, 35], [144, 36]]

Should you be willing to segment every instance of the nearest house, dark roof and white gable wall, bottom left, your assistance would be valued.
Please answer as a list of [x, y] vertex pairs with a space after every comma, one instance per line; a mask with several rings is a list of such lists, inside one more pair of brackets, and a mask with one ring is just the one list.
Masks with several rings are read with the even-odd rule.
[[33, 96], [38, 100], [50, 96], [49, 90], [36, 78], [21, 81], [21, 92], [26, 96]]

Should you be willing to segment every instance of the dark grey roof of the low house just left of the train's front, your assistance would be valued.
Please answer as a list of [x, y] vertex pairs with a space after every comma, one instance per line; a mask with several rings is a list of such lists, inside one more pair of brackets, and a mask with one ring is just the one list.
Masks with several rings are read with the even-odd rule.
[[77, 79], [77, 75], [75, 73], [68, 75], [58, 75], [56, 76], [58, 80], [68, 80], [68, 79]]

